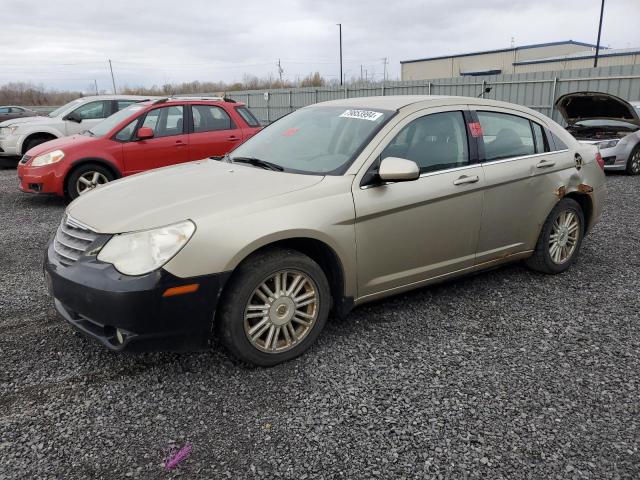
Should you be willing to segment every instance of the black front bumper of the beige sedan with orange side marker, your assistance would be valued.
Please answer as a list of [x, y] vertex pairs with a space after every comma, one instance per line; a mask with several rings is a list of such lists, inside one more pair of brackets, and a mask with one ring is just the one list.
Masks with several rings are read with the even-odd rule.
[[[178, 278], [160, 269], [127, 276], [95, 255], [83, 255], [69, 266], [57, 258], [51, 242], [44, 272], [58, 313], [105, 347], [135, 351], [207, 347], [227, 274]], [[193, 283], [199, 284], [195, 292], [163, 296], [168, 288]]]

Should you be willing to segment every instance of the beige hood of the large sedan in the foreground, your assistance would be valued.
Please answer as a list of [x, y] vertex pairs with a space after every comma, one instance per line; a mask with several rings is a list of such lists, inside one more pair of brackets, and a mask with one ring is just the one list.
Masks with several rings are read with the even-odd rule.
[[309, 188], [323, 176], [200, 160], [111, 182], [73, 201], [67, 213], [98, 233], [161, 227], [185, 219], [233, 217], [264, 201]]

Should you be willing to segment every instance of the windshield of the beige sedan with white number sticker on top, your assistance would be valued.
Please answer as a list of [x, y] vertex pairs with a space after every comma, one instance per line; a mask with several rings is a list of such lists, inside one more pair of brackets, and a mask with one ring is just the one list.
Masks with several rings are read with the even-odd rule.
[[342, 175], [392, 116], [392, 111], [316, 106], [269, 125], [231, 152], [231, 160], [259, 160], [286, 172]]

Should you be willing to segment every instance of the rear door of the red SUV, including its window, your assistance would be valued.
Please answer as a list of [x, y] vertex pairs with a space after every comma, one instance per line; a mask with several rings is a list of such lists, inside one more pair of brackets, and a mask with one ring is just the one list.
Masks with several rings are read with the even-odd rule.
[[242, 129], [238, 128], [224, 108], [217, 105], [193, 104], [190, 109], [191, 160], [222, 156], [242, 143]]

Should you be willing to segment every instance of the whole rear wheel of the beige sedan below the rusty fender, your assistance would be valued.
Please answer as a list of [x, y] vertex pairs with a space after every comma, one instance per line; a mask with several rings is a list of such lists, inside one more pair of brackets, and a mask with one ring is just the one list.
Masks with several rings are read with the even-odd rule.
[[[565, 223], [562, 220], [563, 218], [566, 219], [569, 228], [562, 229], [558, 232], [559, 224]], [[557, 223], [556, 220], [558, 220]], [[575, 230], [573, 230], [574, 226]], [[573, 264], [578, 256], [584, 237], [584, 229], [584, 214], [578, 202], [571, 198], [563, 198], [557, 203], [553, 210], [551, 210], [551, 213], [544, 222], [534, 253], [530, 258], [525, 260], [526, 265], [532, 270], [547, 274], [564, 272]], [[572, 237], [573, 232], [575, 232], [574, 237]], [[560, 252], [558, 252], [557, 246], [554, 247], [551, 245], [552, 234], [560, 235], [560, 245], [566, 239], [565, 247], [568, 248], [569, 251], [565, 251], [565, 247], [562, 247]], [[573, 241], [571, 241], [572, 238]], [[565, 252], [567, 253], [566, 258], [564, 257]]]

